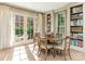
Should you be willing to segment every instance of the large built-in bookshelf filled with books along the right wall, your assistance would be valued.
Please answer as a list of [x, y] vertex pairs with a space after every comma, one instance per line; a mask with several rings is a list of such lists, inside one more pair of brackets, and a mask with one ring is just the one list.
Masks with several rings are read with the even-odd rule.
[[83, 4], [70, 9], [71, 44], [83, 48]]

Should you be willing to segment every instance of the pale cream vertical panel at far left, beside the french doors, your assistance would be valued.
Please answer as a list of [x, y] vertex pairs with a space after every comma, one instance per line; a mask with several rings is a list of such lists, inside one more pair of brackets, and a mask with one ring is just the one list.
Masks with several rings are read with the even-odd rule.
[[[6, 12], [5, 12], [6, 11]], [[10, 14], [9, 8], [0, 5], [0, 47], [5, 48], [10, 46], [11, 29], [10, 29]]]

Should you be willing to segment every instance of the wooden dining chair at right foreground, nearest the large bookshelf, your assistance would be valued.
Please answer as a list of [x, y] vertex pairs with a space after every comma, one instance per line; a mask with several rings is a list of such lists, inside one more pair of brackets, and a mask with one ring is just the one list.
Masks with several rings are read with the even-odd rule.
[[67, 57], [66, 57], [67, 52], [69, 54], [70, 60], [72, 60], [71, 54], [70, 54], [70, 40], [71, 40], [71, 37], [67, 36], [66, 38], [57, 40], [59, 44], [54, 46], [55, 54], [56, 54], [56, 50], [60, 51], [60, 53], [63, 52], [63, 56], [66, 61], [67, 61]]

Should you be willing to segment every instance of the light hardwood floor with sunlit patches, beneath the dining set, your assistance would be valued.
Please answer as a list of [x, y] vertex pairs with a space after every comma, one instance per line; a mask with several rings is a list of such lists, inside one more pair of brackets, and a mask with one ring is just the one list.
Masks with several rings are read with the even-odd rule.
[[[42, 54], [40, 57], [37, 56], [37, 52], [32, 52], [33, 44], [19, 46], [12, 49], [6, 49], [0, 51], [0, 61], [44, 61]], [[72, 61], [85, 61], [85, 52], [80, 52], [76, 50], [71, 50]], [[67, 55], [68, 61], [70, 59]], [[54, 59], [49, 53], [47, 61], [65, 61], [63, 55], [57, 55]]]

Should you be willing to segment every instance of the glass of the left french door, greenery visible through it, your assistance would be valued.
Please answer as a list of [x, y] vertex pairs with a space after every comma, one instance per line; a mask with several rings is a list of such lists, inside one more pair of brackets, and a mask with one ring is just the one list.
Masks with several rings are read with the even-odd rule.
[[15, 15], [15, 41], [24, 39], [24, 16]]

